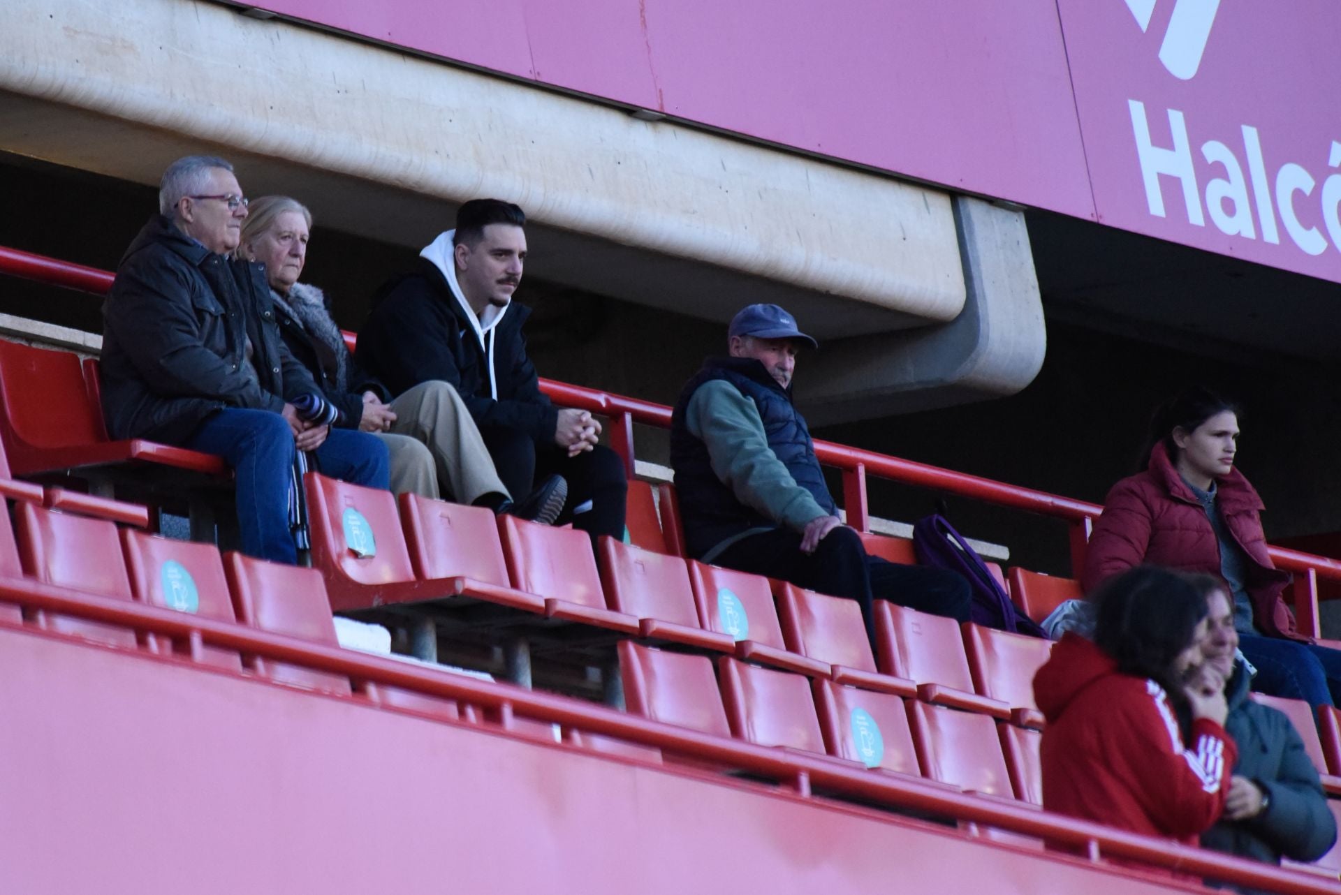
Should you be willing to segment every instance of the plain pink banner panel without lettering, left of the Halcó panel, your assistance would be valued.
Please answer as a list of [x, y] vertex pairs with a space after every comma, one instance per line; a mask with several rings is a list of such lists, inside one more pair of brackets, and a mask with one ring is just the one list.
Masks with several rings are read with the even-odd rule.
[[1053, 0], [259, 0], [380, 42], [1093, 218]]

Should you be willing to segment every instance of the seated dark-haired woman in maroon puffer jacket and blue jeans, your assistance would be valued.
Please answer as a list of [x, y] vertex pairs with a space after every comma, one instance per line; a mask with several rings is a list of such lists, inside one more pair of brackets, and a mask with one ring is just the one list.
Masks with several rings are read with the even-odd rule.
[[1332, 705], [1341, 693], [1341, 651], [1294, 628], [1281, 599], [1290, 576], [1267, 555], [1262, 498], [1238, 469], [1238, 410], [1207, 389], [1188, 389], [1155, 413], [1145, 470], [1113, 485], [1085, 555], [1085, 591], [1140, 563], [1203, 572], [1234, 596], [1239, 648], [1254, 689]]

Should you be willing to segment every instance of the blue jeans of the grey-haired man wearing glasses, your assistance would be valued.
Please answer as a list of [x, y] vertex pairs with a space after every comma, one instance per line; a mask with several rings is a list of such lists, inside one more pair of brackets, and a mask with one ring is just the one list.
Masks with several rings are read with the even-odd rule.
[[[184, 446], [223, 457], [233, 468], [243, 553], [296, 563], [298, 548], [288, 531], [288, 486], [296, 449], [288, 422], [270, 410], [220, 410], [201, 422]], [[334, 478], [369, 488], [389, 484], [386, 445], [367, 433], [331, 429], [311, 453], [316, 468]]]

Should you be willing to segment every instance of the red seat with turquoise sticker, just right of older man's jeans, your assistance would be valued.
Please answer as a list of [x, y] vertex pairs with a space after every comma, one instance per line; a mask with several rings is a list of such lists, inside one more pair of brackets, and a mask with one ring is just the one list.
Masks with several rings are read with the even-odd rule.
[[[414, 603], [469, 591], [471, 596], [492, 603], [544, 612], [544, 600], [511, 587], [475, 581], [459, 573], [418, 579], [401, 531], [396, 497], [390, 492], [350, 485], [318, 473], [307, 473], [303, 485], [307, 490], [312, 567], [320, 569], [326, 579], [326, 591], [335, 610]], [[414, 514], [414, 520], [428, 527], [440, 517], [426, 510], [422, 516]], [[493, 524], [492, 520], [489, 524]], [[441, 533], [421, 532], [420, 543], [429, 551]], [[430, 557], [421, 556], [420, 561], [429, 565]], [[479, 573], [480, 567], [472, 564], [469, 569]]]

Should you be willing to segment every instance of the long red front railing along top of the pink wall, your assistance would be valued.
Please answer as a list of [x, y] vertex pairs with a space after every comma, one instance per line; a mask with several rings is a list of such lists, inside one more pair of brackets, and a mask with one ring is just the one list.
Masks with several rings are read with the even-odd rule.
[[[649, 721], [579, 699], [535, 693], [508, 683], [477, 681], [420, 665], [270, 634], [243, 624], [217, 622], [142, 603], [107, 600], [28, 580], [0, 579], [0, 602], [17, 603], [27, 607], [30, 612], [43, 611], [78, 616], [133, 628], [139, 634], [153, 634], [156, 638], [186, 642], [192, 646], [193, 652], [197, 652], [201, 644], [209, 644], [237, 650], [247, 657], [261, 657], [330, 671], [350, 678], [355, 685], [355, 693], [363, 690], [362, 685], [374, 683], [455, 699], [489, 710], [492, 717], [503, 721], [504, 729], [508, 726], [508, 718], [522, 715], [577, 728], [582, 732], [617, 737], [654, 746], [666, 754], [692, 757], [712, 765], [742, 770], [746, 776], [778, 781], [791, 788], [799, 797], [811, 797], [813, 789], [822, 789], [826, 793], [837, 793], [890, 808], [916, 809], [955, 817], [971, 824], [1008, 829], [1066, 847], [1077, 855], [1086, 856], [1090, 862], [1100, 857], [1141, 862], [1180, 874], [1210, 876], [1238, 886], [1286, 895], [1334, 895], [1338, 891], [1334, 882], [1326, 882], [1321, 878], [1203, 851], [1173, 840], [1141, 836], [1101, 824], [1062, 817], [1004, 799], [971, 796], [919, 781], [916, 777], [876, 773], [865, 768], [849, 766], [845, 762], [829, 761], [822, 756], [809, 757], [795, 750], [756, 746]], [[34, 632], [32, 626], [4, 620], [0, 620], [0, 630]], [[119, 651], [117, 647], [94, 648]], [[156, 658], [148, 651], [139, 651], [137, 655], [146, 661]], [[186, 659], [158, 658], [157, 661], [184, 662]], [[361, 697], [355, 695], [354, 698]], [[444, 721], [443, 724], [453, 722]], [[630, 761], [633, 760], [630, 758]]]

